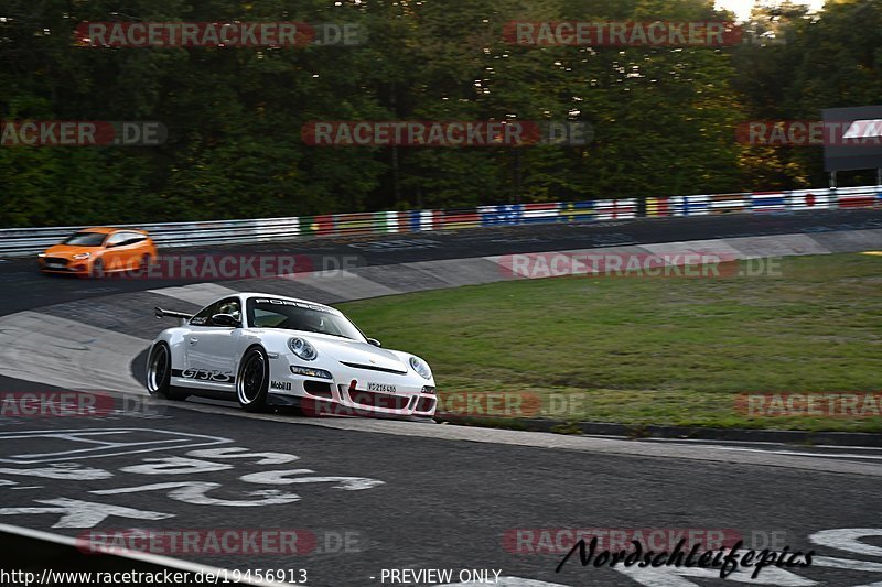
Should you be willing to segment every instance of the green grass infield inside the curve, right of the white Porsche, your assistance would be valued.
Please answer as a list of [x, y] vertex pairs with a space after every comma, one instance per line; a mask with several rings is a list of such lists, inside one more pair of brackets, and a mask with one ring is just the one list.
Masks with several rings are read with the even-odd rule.
[[341, 308], [426, 358], [442, 398], [567, 394], [578, 401], [566, 420], [634, 426], [882, 432], [881, 417], [753, 418], [734, 404], [882, 390], [882, 257], [786, 258], [779, 276], [523, 280]]

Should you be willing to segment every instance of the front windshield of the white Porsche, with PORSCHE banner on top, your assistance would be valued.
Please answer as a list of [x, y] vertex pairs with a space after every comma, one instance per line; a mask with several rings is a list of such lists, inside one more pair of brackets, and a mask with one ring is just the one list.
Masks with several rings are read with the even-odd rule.
[[291, 300], [248, 300], [248, 324], [257, 328], [281, 328], [340, 336], [366, 341], [362, 331], [343, 314], [316, 304]]

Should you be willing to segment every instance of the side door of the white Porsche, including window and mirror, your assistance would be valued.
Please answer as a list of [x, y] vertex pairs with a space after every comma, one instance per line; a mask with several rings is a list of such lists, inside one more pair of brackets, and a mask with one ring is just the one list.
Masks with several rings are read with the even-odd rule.
[[[238, 326], [216, 324], [212, 316], [229, 314], [239, 320]], [[194, 387], [218, 391], [234, 391], [238, 339], [241, 336], [241, 303], [237, 297], [226, 297], [205, 307], [190, 320], [184, 377]]]

